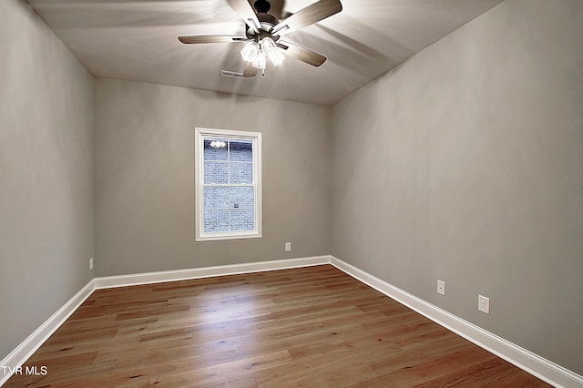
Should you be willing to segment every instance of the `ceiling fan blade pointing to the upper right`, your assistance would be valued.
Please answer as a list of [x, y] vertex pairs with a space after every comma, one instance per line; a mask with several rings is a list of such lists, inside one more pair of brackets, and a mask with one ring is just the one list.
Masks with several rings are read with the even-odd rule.
[[283, 36], [305, 26], [313, 25], [343, 10], [340, 0], [320, 0], [284, 19], [273, 27], [271, 34]]

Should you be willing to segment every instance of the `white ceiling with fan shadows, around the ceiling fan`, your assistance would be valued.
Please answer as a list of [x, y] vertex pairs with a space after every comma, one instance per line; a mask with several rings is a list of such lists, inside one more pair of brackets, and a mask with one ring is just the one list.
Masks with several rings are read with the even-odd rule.
[[[95, 77], [332, 105], [503, 0], [341, 0], [341, 13], [285, 36], [327, 56], [322, 66], [288, 58], [247, 79], [220, 77], [242, 72], [242, 44], [177, 39], [244, 35], [227, 0], [27, 1]], [[313, 2], [271, 0], [271, 13]]]

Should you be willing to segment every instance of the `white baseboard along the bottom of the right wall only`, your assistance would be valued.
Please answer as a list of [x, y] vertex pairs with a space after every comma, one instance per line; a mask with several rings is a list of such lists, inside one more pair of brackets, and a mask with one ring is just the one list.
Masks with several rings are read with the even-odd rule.
[[363, 281], [364, 284], [373, 287], [373, 289], [383, 292], [385, 295], [419, 312], [431, 321], [444, 326], [446, 329], [455, 332], [466, 340], [476, 343], [476, 345], [486, 349], [486, 351], [496, 354], [498, 357], [513, 363], [518, 368], [537, 376], [539, 379], [551, 385], [565, 388], [583, 387], [583, 376], [577, 373], [573, 373], [554, 362], [550, 362], [533, 352], [529, 352], [512, 342], [506, 341], [496, 334], [486, 332], [486, 330], [476, 326], [474, 323], [467, 322], [450, 312], [442, 310], [427, 301], [394, 287], [394, 285], [382, 281], [343, 260], [331, 256], [330, 263], [353, 278]]

